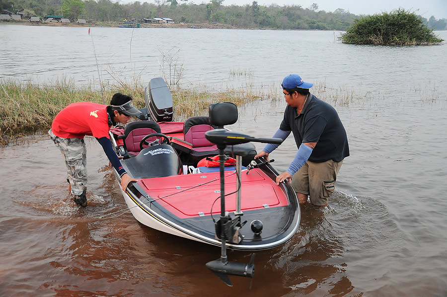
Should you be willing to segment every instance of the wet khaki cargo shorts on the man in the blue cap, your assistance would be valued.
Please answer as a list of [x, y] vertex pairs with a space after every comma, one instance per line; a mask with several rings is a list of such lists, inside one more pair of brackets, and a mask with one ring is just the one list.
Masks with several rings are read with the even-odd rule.
[[292, 177], [295, 192], [309, 195], [313, 205], [326, 205], [335, 190], [335, 181], [343, 163], [329, 160], [321, 163], [307, 161]]

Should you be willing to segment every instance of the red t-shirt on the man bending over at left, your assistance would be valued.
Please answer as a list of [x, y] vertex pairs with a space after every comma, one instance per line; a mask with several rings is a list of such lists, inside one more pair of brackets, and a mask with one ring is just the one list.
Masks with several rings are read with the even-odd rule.
[[107, 105], [91, 102], [72, 103], [61, 110], [53, 120], [51, 129], [61, 138], [80, 138], [90, 135], [109, 138]]

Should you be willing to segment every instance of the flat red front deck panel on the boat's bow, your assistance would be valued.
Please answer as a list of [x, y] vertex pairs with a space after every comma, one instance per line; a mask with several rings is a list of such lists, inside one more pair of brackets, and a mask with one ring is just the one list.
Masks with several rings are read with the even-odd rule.
[[[236, 174], [225, 171], [225, 194], [236, 190]], [[210, 215], [213, 202], [220, 197], [220, 173], [174, 175], [146, 178], [140, 186], [169, 212], [179, 218]], [[287, 206], [288, 200], [280, 187], [260, 169], [241, 174], [241, 210]], [[225, 197], [225, 210], [234, 212], [236, 194]], [[220, 213], [220, 199], [213, 206], [213, 214]]]

